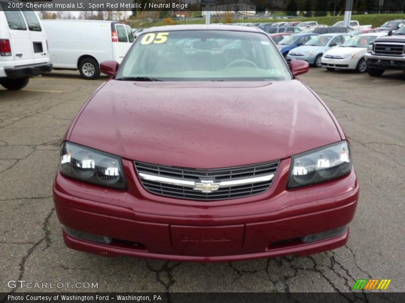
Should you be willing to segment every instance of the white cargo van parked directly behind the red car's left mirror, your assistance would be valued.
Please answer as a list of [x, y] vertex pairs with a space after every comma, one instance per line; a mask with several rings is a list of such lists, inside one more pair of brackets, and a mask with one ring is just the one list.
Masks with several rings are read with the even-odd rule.
[[134, 42], [131, 27], [115, 21], [43, 20], [54, 69], [79, 70], [85, 79], [100, 75], [100, 63], [121, 63]]

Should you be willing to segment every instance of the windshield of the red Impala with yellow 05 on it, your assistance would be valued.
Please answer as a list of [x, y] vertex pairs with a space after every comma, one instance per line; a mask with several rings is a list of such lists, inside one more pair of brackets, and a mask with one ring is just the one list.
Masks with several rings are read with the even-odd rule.
[[117, 73], [128, 81], [272, 81], [291, 73], [262, 33], [177, 30], [143, 33]]

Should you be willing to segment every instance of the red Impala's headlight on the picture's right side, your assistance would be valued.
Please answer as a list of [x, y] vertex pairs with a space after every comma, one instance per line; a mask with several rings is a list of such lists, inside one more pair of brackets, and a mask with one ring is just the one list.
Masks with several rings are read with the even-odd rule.
[[307, 151], [292, 158], [289, 188], [333, 180], [349, 174], [352, 167], [347, 141]]

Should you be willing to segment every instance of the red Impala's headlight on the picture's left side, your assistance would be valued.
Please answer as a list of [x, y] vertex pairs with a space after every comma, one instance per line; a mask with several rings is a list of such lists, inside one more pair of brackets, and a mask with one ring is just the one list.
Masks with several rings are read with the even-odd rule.
[[59, 170], [82, 181], [119, 189], [126, 187], [119, 157], [70, 142], [62, 145]]

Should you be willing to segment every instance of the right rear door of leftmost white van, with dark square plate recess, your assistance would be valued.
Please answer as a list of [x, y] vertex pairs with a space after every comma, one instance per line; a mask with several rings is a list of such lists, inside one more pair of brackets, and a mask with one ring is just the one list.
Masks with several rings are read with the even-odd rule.
[[34, 63], [48, 62], [47, 39], [41, 22], [39, 22], [38, 17], [31, 10], [23, 11], [22, 13], [28, 26], [29, 37], [31, 38]]

